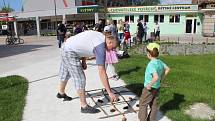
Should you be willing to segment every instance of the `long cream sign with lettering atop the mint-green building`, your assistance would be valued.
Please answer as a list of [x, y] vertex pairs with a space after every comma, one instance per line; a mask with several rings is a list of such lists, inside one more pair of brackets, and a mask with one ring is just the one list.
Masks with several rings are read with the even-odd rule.
[[108, 8], [109, 13], [129, 12], [168, 12], [168, 11], [197, 11], [198, 5], [167, 5], [167, 6], [139, 6]]

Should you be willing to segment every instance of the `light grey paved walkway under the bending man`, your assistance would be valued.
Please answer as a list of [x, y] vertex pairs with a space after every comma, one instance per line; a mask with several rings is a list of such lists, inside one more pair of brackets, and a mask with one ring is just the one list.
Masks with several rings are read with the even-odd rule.
[[[103, 112], [98, 114], [80, 113], [79, 99], [64, 102], [56, 98], [58, 91], [58, 70], [60, 64], [60, 50], [57, 48], [54, 37], [35, 37], [26, 40], [24, 45], [6, 46], [0, 44], [0, 76], [21, 75], [29, 80], [29, 90], [24, 109], [23, 121], [120, 121], [122, 116], [99, 119], [105, 116]], [[86, 90], [102, 89], [97, 67], [94, 61], [88, 61]], [[125, 85], [122, 80], [110, 80], [111, 87]], [[66, 89], [68, 95], [77, 97], [72, 81], [68, 82]], [[93, 92], [89, 92], [93, 94]], [[129, 96], [135, 97], [133, 93]], [[125, 95], [126, 97], [126, 95]], [[102, 97], [100, 97], [102, 98]], [[98, 99], [98, 98], [97, 98]], [[95, 103], [87, 98], [91, 106]], [[136, 102], [138, 103], [138, 101]], [[119, 106], [119, 108], [122, 108]], [[103, 106], [110, 113], [110, 106]], [[138, 121], [136, 113], [126, 114], [127, 121]], [[160, 121], [169, 121], [161, 114]]]

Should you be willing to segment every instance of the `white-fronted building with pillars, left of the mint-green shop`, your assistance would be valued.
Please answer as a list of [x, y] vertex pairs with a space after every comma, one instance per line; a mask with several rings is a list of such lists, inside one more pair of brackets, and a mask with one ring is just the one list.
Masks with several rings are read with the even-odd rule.
[[[90, 0], [88, 0], [90, 1]], [[56, 33], [58, 23], [66, 20], [68, 28], [76, 22], [94, 24], [95, 20], [104, 19], [104, 14], [77, 14], [77, 6], [98, 6], [81, 0], [26, 0], [22, 12], [10, 13], [14, 16], [13, 29], [16, 35], [38, 35]], [[95, 18], [96, 17], [96, 18]], [[72, 28], [71, 28], [72, 29]]]

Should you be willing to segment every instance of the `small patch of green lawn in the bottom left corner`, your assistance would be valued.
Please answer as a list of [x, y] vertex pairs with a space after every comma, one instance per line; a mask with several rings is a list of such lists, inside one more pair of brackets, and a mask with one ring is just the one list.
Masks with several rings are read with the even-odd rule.
[[28, 81], [20, 76], [0, 78], [0, 121], [22, 121]]

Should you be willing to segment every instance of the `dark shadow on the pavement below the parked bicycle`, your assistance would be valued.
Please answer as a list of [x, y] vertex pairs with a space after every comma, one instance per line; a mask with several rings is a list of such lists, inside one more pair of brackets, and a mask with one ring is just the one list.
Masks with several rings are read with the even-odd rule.
[[37, 51], [51, 45], [0, 45], [0, 58]]

